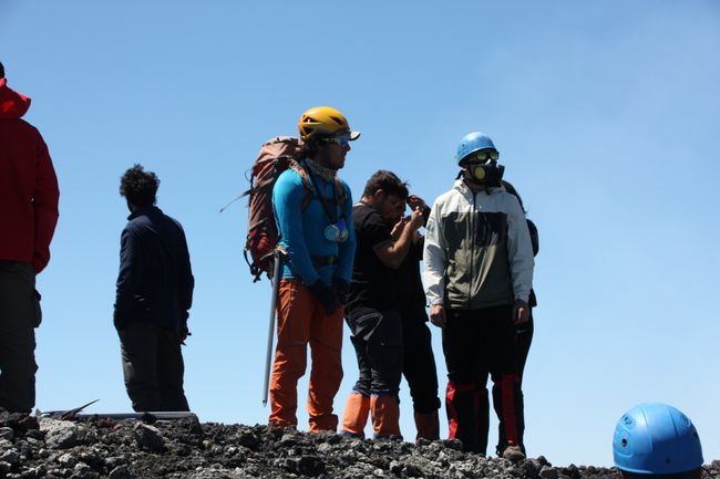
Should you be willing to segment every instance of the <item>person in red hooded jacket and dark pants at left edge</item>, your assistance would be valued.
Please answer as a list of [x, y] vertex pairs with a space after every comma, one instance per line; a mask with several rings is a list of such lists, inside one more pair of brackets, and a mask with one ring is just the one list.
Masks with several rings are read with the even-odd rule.
[[21, 119], [29, 107], [0, 63], [0, 408], [18, 413], [35, 405], [35, 275], [50, 261], [60, 196], [45, 142]]

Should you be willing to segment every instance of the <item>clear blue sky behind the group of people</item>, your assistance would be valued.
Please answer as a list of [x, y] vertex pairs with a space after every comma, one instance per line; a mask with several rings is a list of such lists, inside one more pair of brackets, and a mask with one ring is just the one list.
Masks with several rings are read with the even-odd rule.
[[[263, 140], [331, 105], [362, 132], [341, 171], [356, 196], [388, 168], [432, 201], [465, 133], [495, 140], [541, 232], [531, 456], [608, 466], [623, 412], [660, 400], [720, 459], [719, 27], [714, 0], [1, 0], [0, 60], [33, 98], [25, 118], [62, 190], [39, 278], [38, 407], [130, 410], [112, 326], [117, 188], [142, 163], [189, 241], [189, 403], [204, 421], [266, 423], [269, 288], [241, 259], [246, 209], [218, 209]], [[347, 332], [343, 364], [339, 413], [357, 376]], [[412, 438], [404, 383], [402, 399]]]

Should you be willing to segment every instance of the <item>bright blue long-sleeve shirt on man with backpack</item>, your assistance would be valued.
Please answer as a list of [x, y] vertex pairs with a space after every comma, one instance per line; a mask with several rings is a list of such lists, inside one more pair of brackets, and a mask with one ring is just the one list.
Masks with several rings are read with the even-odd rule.
[[[350, 282], [354, 260], [356, 236], [352, 228], [352, 198], [350, 187], [340, 181], [344, 189], [344, 201], [338, 205], [336, 183], [312, 176], [312, 195], [306, 200], [308, 190], [300, 176], [291, 168], [285, 170], [272, 188], [272, 208], [280, 233], [280, 246], [288, 253], [282, 269], [282, 278], [300, 279], [312, 284], [318, 279], [330, 285], [333, 278]], [[316, 191], [315, 188], [320, 191]], [[328, 241], [325, 229], [333, 221], [320, 202], [318, 195], [326, 199], [327, 208], [336, 208], [337, 218], [344, 219], [348, 239], [344, 242]], [[302, 208], [304, 202], [307, 206]], [[332, 212], [332, 210], [330, 210]], [[338, 257], [337, 264], [316, 268], [312, 257]]]

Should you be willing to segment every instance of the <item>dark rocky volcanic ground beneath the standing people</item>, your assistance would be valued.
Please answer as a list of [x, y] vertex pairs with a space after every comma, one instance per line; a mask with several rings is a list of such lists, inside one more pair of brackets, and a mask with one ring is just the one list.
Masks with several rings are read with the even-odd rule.
[[[266, 426], [172, 421], [59, 420], [0, 413], [0, 478], [503, 478], [617, 479], [615, 469], [512, 464], [463, 454], [457, 441], [348, 439]], [[703, 479], [720, 479], [720, 461]]]

